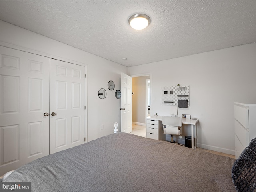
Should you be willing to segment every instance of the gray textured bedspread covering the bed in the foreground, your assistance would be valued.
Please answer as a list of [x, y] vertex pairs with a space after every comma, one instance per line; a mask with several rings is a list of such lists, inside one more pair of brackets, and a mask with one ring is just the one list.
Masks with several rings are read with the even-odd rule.
[[5, 181], [34, 192], [232, 192], [234, 159], [116, 133], [45, 156]]

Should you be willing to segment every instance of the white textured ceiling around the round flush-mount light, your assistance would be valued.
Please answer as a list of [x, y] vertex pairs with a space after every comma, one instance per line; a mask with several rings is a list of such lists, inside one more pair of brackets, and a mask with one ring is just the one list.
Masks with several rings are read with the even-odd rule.
[[0, 0], [0, 20], [124, 66], [256, 42], [256, 0]]

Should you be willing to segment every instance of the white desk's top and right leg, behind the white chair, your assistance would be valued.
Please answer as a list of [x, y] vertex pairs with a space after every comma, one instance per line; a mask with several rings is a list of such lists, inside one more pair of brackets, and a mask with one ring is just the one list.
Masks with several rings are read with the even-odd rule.
[[[163, 116], [154, 115], [147, 117], [148, 120], [155, 120], [155, 121], [163, 121]], [[191, 147], [192, 149], [196, 148], [196, 123], [198, 122], [198, 119], [186, 119], [182, 118], [182, 124], [189, 124], [191, 125]], [[195, 134], [194, 134], [195, 132]], [[194, 136], [195, 135], [195, 136]], [[194, 138], [195, 137], [195, 144], [194, 144]]]

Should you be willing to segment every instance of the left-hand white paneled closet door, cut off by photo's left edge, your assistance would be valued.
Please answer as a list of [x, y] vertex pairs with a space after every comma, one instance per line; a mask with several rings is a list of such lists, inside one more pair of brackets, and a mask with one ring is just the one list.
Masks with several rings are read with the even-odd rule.
[[49, 154], [50, 59], [0, 46], [0, 176]]

